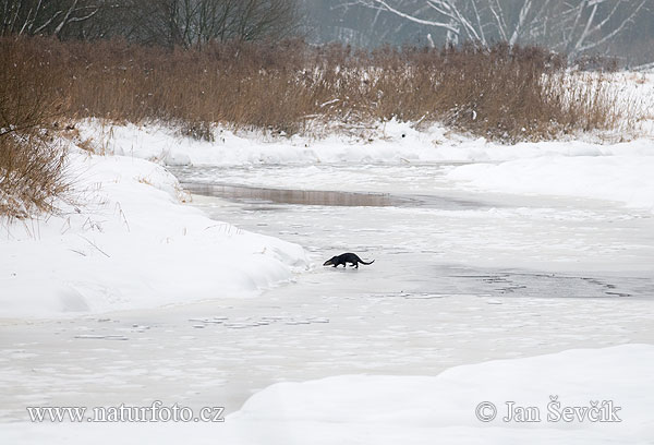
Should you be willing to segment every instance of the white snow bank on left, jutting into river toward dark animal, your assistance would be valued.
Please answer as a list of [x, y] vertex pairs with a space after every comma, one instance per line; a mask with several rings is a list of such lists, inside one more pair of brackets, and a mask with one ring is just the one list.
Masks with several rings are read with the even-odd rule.
[[306, 264], [301, 246], [183, 205], [162, 167], [70, 155], [78, 207], [5, 227], [0, 317], [58, 316], [253, 294]]

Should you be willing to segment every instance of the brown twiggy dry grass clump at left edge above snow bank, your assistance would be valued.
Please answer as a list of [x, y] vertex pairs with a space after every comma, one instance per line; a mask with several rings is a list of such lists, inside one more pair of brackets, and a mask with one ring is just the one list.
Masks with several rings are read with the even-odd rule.
[[53, 212], [69, 184], [64, 151], [51, 136], [65, 105], [51, 82], [52, 58], [32, 43], [4, 41], [0, 64], [0, 217]]

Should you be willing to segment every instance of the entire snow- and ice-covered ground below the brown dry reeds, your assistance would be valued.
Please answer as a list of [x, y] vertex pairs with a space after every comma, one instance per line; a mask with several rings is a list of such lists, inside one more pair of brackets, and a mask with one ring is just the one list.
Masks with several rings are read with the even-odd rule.
[[[629, 85], [654, 105], [651, 77]], [[216, 129], [213, 143], [77, 129], [107, 153], [71, 147], [78, 204], [3, 227], [0, 443], [654, 440], [651, 133], [502, 146], [395, 121], [320, 140]], [[170, 171], [361, 194], [190, 203]], [[319, 266], [349, 250], [376, 262]], [[26, 421], [26, 406], [155, 399], [229, 414]], [[502, 421], [510, 401], [540, 421]], [[583, 420], [550, 420], [555, 401]], [[620, 422], [589, 419], [607, 404]]]

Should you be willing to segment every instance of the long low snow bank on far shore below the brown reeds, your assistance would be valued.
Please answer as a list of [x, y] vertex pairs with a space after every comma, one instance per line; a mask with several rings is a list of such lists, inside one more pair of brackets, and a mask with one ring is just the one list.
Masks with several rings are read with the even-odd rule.
[[366, 137], [331, 134], [322, 140], [237, 135], [216, 129], [215, 141], [195, 141], [161, 125], [112, 125], [87, 120], [78, 125], [83, 140], [118, 155], [134, 156], [169, 166], [243, 166], [317, 163], [480, 163], [542, 156], [645, 156], [653, 155], [652, 140], [616, 144], [554, 141], [500, 145], [469, 139], [440, 125], [424, 131], [411, 123], [378, 123]]

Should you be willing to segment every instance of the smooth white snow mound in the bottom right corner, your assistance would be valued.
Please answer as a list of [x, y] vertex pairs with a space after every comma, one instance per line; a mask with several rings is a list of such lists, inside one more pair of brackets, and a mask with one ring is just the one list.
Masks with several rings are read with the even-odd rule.
[[[362, 443], [390, 444], [402, 433], [410, 443], [440, 442], [452, 433], [457, 443], [468, 443], [485, 435], [487, 426], [496, 431], [485, 443], [520, 437], [530, 443], [556, 437], [566, 443], [637, 442], [654, 437], [653, 371], [654, 347], [627, 345], [457, 366], [434, 377], [342, 375], [286, 382], [254, 395], [228, 422], [287, 425], [287, 437], [298, 433], [293, 443], [328, 443], [330, 432], [332, 438], [343, 440], [350, 430], [365, 437]], [[613, 400], [621, 407], [622, 422], [565, 422], [556, 413], [547, 420], [552, 396], [558, 396], [561, 408]], [[497, 407], [492, 422], [475, 417], [483, 401]], [[504, 421], [507, 401], [537, 407], [541, 421]]]

